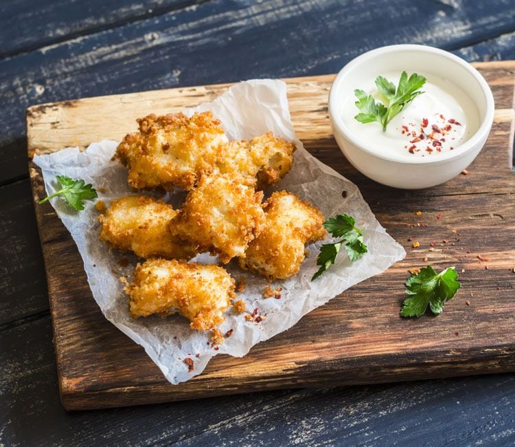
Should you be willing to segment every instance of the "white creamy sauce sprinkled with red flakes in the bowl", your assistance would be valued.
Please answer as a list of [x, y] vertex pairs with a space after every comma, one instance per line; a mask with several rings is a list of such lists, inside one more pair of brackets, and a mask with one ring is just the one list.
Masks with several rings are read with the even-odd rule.
[[[381, 73], [398, 85], [401, 72]], [[479, 113], [474, 102], [457, 85], [431, 74], [420, 73], [426, 78], [424, 94], [395, 116], [382, 131], [381, 124], [362, 124], [354, 119], [359, 113], [354, 104], [354, 93], [343, 102], [342, 118], [361, 144], [374, 152], [398, 158], [437, 157], [440, 153], [459, 151], [479, 128]], [[409, 73], [411, 75], [411, 73]], [[376, 76], [363, 80], [354, 88], [362, 89], [387, 104], [375, 84]], [[353, 89], [354, 92], [354, 89]]]

